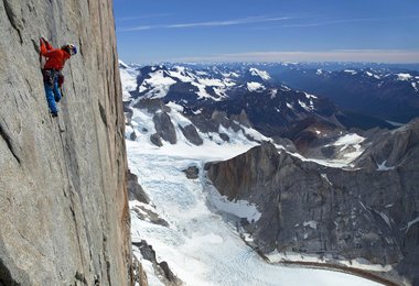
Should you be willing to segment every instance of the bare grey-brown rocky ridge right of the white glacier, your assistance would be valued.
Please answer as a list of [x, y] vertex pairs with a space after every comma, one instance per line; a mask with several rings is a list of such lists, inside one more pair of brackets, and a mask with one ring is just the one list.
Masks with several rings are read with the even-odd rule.
[[[247, 230], [261, 252], [361, 257], [418, 285], [418, 122], [386, 133], [355, 169], [303, 162], [266, 143], [208, 164], [207, 176], [229, 199], [258, 206], [261, 218]], [[385, 160], [393, 165], [380, 167]]]

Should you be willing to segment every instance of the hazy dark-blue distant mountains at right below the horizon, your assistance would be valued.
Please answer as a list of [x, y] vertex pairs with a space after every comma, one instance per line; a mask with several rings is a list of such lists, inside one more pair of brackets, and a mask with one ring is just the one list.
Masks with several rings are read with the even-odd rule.
[[292, 66], [277, 69], [275, 78], [293, 88], [325, 96], [352, 112], [402, 123], [419, 116], [418, 70], [365, 66], [331, 72]]

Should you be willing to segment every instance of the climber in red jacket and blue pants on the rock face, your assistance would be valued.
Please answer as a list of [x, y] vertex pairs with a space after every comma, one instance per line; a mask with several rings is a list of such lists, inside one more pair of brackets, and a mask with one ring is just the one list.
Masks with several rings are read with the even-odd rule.
[[40, 38], [40, 58], [46, 57], [46, 63], [42, 68], [44, 77], [44, 88], [46, 101], [52, 117], [58, 116], [58, 109], [55, 102], [60, 102], [62, 98], [61, 86], [64, 82], [64, 76], [61, 70], [65, 62], [73, 55], [77, 54], [77, 48], [73, 44], [67, 44], [61, 48], [54, 48], [44, 37]]

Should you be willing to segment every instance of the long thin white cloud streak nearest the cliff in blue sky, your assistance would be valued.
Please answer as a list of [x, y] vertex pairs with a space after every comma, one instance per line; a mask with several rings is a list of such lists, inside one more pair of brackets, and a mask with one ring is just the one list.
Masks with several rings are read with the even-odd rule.
[[142, 31], [150, 29], [187, 29], [187, 28], [198, 28], [198, 26], [227, 26], [227, 25], [245, 25], [251, 23], [267, 23], [267, 22], [277, 22], [290, 20], [290, 16], [277, 16], [277, 18], [267, 18], [267, 16], [253, 16], [253, 18], [243, 18], [243, 19], [233, 19], [224, 21], [211, 21], [211, 22], [194, 22], [194, 23], [179, 23], [179, 24], [166, 24], [166, 25], [141, 25], [133, 28], [121, 28], [120, 32], [132, 32], [132, 31]]

